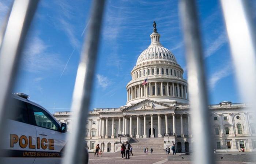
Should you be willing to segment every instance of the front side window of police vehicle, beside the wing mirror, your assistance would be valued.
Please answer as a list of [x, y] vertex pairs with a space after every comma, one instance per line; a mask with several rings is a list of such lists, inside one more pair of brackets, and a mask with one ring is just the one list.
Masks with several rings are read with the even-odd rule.
[[50, 115], [47, 112], [34, 105], [32, 105], [32, 108], [35, 116], [35, 123], [37, 126], [58, 130], [56, 122], [50, 117]]

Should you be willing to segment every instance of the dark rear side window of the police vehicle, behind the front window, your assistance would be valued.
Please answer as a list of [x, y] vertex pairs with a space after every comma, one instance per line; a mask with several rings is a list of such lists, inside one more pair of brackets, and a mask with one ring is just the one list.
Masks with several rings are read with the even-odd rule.
[[[13, 102], [11, 108], [15, 108], [16, 113], [8, 114], [8, 116], [10, 116], [10, 119], [28, 124], [29, 117], [26, 103], [17, 99], [13, 99], [12, 101]], [[8, 111], [11, 112], [11, 110]]]

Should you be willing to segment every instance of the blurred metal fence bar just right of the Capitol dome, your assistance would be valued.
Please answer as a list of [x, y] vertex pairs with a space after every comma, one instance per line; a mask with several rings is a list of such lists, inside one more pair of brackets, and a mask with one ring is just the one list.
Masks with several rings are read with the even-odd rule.
[[193, 116], [191, 120], [194, 140], [193, 152], [195, 152], [194, 163], [213, 164], [210, 112], [208, 110], [205, 67], [195, 0], [181, 0], [180, 14], [184, 30], [189, 97]]

